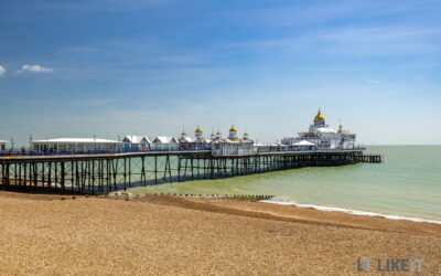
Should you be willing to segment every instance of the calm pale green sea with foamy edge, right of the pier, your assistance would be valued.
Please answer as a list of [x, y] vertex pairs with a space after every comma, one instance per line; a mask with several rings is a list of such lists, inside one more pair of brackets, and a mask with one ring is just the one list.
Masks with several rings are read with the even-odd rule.
[[376, 146], [384, 162], [197, 180], [128, 192], [275, 194], [279, 204], [441, 222], [441, 146]]

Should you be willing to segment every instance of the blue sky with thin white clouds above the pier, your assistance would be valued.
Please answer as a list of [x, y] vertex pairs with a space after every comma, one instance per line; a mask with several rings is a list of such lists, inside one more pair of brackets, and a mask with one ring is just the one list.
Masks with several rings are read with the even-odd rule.
[[441, 2], [0, 1], [0, 139], [441, 141]]

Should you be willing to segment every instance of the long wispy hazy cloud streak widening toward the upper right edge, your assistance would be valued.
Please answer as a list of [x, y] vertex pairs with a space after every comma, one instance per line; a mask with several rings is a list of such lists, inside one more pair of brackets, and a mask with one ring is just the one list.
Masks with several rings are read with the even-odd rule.
[[402, 26], [325, 29], [292, 38], [229, 43], [224, 47], [244, 47], [248, 51], [316, 52], [357, 56], [434, 54], [441, 47], [433, 43], [440, 29]]

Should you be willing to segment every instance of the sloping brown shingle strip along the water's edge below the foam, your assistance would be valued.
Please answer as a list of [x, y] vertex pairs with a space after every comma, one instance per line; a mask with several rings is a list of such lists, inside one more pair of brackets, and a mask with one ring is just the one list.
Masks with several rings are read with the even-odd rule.
[[[120, 198], [116, 197], [116, 199], [128, 200], [125, 197], [120, 195]], [[255, 219], [441, 236], [441, 224], [437, 223], [391, 220], [383, 215], [359, 215], [333, 210], [322, 211], [311, 206], [275, 204], [265, 200], [248, 201], [232, 197], [174, 197], [166, 194], [146, 194], [144, 197], [130, 198], [129, 200]]]

